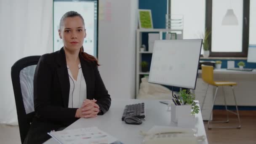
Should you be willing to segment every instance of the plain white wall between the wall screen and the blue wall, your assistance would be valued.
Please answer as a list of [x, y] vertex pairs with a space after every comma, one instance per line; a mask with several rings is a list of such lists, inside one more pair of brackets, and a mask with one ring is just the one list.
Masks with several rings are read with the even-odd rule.
[[135, 96], [138, 5], [138, 0], [99, 0], [99, 71], [112, 99]]

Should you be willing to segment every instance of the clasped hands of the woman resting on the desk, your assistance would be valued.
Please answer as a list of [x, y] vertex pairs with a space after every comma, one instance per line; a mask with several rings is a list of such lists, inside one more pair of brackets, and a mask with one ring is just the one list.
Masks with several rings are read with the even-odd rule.
[[99, 113], [99, 105], [95, 103], [96, 101], [97, 100], [94, 99], [86, 99], [85, 101], [83, 101], [83, 105], [81, 108], [77, 109], [75, 117], [97, 117], [97, 114]]

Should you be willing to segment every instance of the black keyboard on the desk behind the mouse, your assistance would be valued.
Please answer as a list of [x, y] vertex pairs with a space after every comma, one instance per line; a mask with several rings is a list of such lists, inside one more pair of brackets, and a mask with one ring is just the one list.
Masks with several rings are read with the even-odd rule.
[[144, 103], [126, 105], [125, 109], [123, 110], [122, 120], [124, 120], [124, 118], [128, 116], [145, 118]]

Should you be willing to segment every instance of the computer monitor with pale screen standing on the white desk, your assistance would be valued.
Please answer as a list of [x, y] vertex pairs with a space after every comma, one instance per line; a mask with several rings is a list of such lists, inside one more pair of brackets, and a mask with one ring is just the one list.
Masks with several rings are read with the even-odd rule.
[[156, 40], [149, 83], [195, 89], [202, 39]]

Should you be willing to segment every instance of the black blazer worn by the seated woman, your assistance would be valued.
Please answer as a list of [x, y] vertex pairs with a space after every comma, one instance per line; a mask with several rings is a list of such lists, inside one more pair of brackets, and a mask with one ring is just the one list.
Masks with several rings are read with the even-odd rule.
[[[86, 82], [87, 99], [96, 99], [96, 104], [101, 109], [98, 115], [103, 115], [108, 111], [111, 99], [99, 74], [98, 66], [95, 62], [85, 61], [81, 56], [79, 58]], [[66, 127], [77, 120], [75, 118], [77, 108], [68, 108], [69, 88], [64, 48], [41, 56], [35, 69], [35, 118], [29, 129], [28, 139], [35, 139], [35, 137], [40, 139], [45, 135], [50, 138], [47, 132]], [[37, 136], [35, 133], [38, 133]], [[25, 143], [35, 142], [30, 140]], [[43, 141], [45, 140], [47, 139], [44, 138]]]

